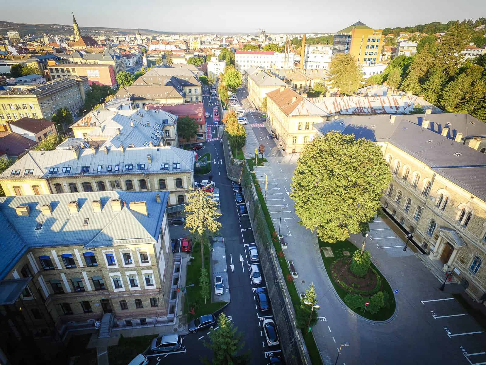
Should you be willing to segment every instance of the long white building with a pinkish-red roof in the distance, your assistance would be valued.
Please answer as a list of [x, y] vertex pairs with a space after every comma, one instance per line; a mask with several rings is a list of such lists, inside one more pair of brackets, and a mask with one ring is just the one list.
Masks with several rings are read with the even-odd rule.
[[236, 51], [235, 66], [240, 72], [250, 67], [263, 69], [287, 68], [294, 64], [294, 53], [278, 53], [274, 51]]

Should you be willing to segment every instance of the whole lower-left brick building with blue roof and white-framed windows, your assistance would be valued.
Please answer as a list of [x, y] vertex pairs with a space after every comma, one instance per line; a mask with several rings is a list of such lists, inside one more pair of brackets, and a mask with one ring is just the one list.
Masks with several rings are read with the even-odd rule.
[[67, 330], [95, 321], [100, 337], [113, 324], [173, 321], [180, 260], [167, 199], [125, 191], [0, 198], [9, 237], [0, 271], [0, 313], [10, 324], [0, 329], [3, 355], [35, 345], [39, 361], [52, 360]]

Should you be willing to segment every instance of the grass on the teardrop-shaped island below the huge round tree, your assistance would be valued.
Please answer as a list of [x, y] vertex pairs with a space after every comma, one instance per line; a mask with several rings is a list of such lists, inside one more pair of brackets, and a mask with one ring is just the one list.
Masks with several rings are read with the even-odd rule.
[[[329, 277], [332, 281], [332, 285], [334, 286], [334, 289], [338, 293], [339, 297], [344, 301], [344, 297], [346, 296], [346, 294], [348, 292], [346, 290], [344, 290], [339, 284], [337, 284], [334, 281], [333, 276], [332, 276], [331, 271], [330, 271], [330, 266], [335, 260], [337, 260], [339, 258], [346, 257], [347, 259], [351, 259], [351, 257], [353, 256], [353, 253], [358, 248], [347, 240], [346, 241], [338, 241], [336, 243], [327, 243], [327, 242], [321, 241], [320, 239], [319, 239], [319, 247], [331, 247], [332, 248], [332, 253], [334, 254], [334, 257], [326, 257], [326, 256], [324, 256], [324, 252], [321, 251], [322, 261], [324, 262], [324, 266], [326, 267], [326, 271], [327, 271], [327, 273], [328, 273], [328, 275], [329, 275]], [[350, 256], [343, 255], [344, 251], [348, 251]], [[388, 284], [385, 277], [382, 275], [382, 273], [380, 273], [380, 270], [378, 270], [378, 268], [373, 263], [371, 263], [371, 267], [374, 270], [376, 270], [377, 273], [381, 276], [381, 281], [382, 281], [381, 291], [382, 292], [388, 292], [389, 308], [384, 307], [378, 313], [375, 313], [375, 314], [371, 314], [369, 312], [363, 313], [362, 311], [358, 312], [358, 314], [365, 317], [365, 318], [371, 319], [373, 321], [384, 321], [384, 320], [390, 318], [393, 315], [393, 313], [395, 312], [395, 297], [394, 297], [393, 291], [390, 287], [390, 284]]]

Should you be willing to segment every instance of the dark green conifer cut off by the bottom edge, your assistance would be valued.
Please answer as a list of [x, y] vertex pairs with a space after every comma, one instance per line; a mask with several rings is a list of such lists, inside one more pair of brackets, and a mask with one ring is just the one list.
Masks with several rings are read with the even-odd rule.
[[250, 364], [249, 351], [239, 352], [244, 347], [243, 333], [238, 332], [238, 328], [228, 319], [226, 314], [220, 313], [218, 316], [218, 329], [209, 332], [209, 342], [204, 342], [213, 354], [212, 361], [203, 360], [206, 365], [246, 365]]

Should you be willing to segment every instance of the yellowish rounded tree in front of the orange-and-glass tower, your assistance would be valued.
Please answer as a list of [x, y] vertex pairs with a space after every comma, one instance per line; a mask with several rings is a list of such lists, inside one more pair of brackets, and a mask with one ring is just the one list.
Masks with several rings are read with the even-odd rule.
[[330, 82], [339, 93], [352, 95], [363, 86], [363, 73], [351, 54], [337, 54], [330, 64]]

